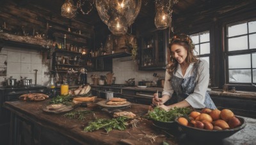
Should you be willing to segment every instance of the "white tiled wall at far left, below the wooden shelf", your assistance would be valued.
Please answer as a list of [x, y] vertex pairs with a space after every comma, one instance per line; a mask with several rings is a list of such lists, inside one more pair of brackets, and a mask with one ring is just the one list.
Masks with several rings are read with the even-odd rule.
[[[0, 86], [3, 85], [4, 78], [9, 78], [10, 76], [13, 76], [17, 81], [20, 80], [20, 76], [23, 78], [28, 77], [35, 84], [35, 71], [33, 71], [35, 69], [38, 69], [36, 85], [47, 85], [49, 76], [44, 72], [49, 72], [51, 61], [45, 59], [44, 53], [38, 50], [8, 46], [4, 46], [0, 53], [7, 55], [7, 76], [0, 76]], [[6, 55], [0, 55], [0, 57], [6, 57]]]

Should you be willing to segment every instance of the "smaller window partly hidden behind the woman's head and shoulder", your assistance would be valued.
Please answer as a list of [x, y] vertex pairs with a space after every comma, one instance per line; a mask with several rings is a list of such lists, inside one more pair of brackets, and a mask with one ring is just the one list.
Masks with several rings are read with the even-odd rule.
[[195, 44], [194, 54], [204, 59], [210, 64], [210, 33], [209, 31], [200, 32], [190, 36]]

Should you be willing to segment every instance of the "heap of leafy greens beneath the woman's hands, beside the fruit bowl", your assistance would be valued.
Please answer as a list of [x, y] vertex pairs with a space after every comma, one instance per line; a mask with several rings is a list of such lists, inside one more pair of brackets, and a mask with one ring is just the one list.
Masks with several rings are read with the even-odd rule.
[[175, 118], [179, 116], [188, 115], [189, 113], [191, 113], [191, 111], [192, 109], [189, 107], [174, 107], [170, 111], [165, 111], [164, 109], [156, 107], [154, 111], [148, 113], [147, 118], [156, 121], [170, 122], [174, 121]]

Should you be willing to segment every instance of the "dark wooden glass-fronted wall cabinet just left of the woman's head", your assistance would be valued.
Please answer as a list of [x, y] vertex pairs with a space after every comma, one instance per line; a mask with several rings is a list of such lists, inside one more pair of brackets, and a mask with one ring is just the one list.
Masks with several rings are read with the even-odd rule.
[[156, 31], [141, 37], [140, 70], [161, 70], [166, 66], [168, 31]]

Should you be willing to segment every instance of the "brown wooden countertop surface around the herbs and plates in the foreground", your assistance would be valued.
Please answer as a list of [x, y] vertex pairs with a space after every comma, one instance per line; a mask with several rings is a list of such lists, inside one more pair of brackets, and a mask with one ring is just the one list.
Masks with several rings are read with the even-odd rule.
[[[132, 144], [163, 144], [163, 141], [169, 144], [198, 144], [198, 142], [191, 141], [184, 137], [184, 134], [170, 133], [157, 128], [152, 124], [152, 121], [141, 119], [137, 128], [127, 127], [126, 130], [112, 130], [108, 134], [104, 130], [97, 130], [94, 132], [83, 132], [83, 128], [88, 125], [90, 120], [73, 120], [65, 118], [63, 114], [49, 114], [42, 111], [42, 107], [47, 104], [47, 100], [42, 102], [24, 102], [17, 100], [12, 102], [5, 102], [4, 107], [12, 111], [26, 120], [36, 122], [42, 127], [47, 127], [55, 132], [59, 132], [79, 144], [122, 144], [121, 140]], [[95, 113], [97, 118], [111, 118], [111, 115], [101, 111], [99, 106], [91, 104], [83, 108], [88, 109]], [[137, 116], [141, 116], [148, 111], [148, 106], [141, 104], [132, 104], [130, 108], [124, 109], [125, 111], [132, 111]], [[246, 127], [237, 132], [236, 134], [223, 139], [218, 144], [254, 144], [256, 134], [256, 120], [252, 118], [244, 118], [246, 120]], [[172, 135], [170, 135], [172, 134]], [[149, 135], [156, 135], [156, 141], [150, 141]], [[174, 135], [174, 137], [173, 137]]]

